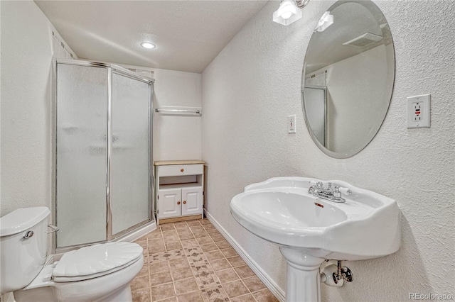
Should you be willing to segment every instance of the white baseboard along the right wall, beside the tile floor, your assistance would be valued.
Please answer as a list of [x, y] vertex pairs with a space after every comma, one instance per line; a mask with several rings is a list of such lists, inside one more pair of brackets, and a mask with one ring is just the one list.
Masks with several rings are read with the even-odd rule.
[[204, 210], [204, 213], [205, 217], [208, 218], [210, 223], [212, 223], [215, 228], [221, 233], [221, 235], [225, 237], [225, 239], [230, 243], [230, 245], [232, 245], [238, 255], [240, 255], [240, 257], [242, 257], [242, 259], [248, 264], [250, 269], [252, 269], [257, 277], [261, 279], [262, 282], [264, 282], [265, 286], [267, 286], [267, 288], [272, 291], [274, 296], [277, 297], [280, 302], [286, 301], [284, 291], [269, 277], [269, 275], [267, 275], [262, 270], [261, 267], [259, 267], [259, 265], [257, 265], [255, 260], [253, 260], [252, 257], [250, 257], [250, 255], [248, 255], [248, 253], [243, 250], [237, 241], [234, 240], [234, 238], [220, 225], [220, 223], [218, 223], [215, 218], [213, 218], [213, 216], [210, 215], [210, 213], [208, 213], [208, 211]]

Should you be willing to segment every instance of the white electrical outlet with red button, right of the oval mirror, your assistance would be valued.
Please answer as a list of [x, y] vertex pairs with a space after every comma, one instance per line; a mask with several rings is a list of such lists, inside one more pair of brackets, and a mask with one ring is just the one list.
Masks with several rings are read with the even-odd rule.
[[407, 98], [407, 128], [430, 127], [430, 95]]

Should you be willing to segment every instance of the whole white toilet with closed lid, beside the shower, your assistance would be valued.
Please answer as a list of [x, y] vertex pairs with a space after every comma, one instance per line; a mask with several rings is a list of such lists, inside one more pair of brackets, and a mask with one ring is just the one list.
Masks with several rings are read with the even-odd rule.
[[132, 301], [129, 282], [144, 264], [136, 243], [108, 242], [47, 256], [47, 207], [0, 218], [0, 294], [16, 301]]

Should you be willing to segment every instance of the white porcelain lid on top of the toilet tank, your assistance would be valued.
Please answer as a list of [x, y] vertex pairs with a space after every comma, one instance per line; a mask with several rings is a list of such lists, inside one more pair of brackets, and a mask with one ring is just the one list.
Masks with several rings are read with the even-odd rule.
[[49, 208], [45, 206], [18, 208], [0, 218], [0, 237], [28, 230], [48, 217], [49, 213]]

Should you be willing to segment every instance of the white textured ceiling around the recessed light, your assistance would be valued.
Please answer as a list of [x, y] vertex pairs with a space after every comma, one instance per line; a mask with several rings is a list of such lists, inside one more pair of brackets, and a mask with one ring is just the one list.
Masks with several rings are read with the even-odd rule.
[[184, 72], [203, 72], [266, 3], [36, 0], [81, 59]]

